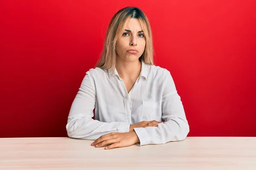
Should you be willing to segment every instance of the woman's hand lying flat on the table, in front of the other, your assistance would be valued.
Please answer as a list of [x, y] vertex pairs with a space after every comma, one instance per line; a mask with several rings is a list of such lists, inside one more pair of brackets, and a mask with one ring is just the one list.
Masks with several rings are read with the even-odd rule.
[[91, 145], [96, 147], [103, 147], [107, 144], [111, 144], [108, 147], [105, 147], [105, 149], [113, 149], [116, 147], [131, 146], [139, 142], [140, 139], [138, 138], [135, 131], [126, 133], [113, 132], [100, 136]]

